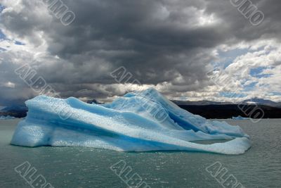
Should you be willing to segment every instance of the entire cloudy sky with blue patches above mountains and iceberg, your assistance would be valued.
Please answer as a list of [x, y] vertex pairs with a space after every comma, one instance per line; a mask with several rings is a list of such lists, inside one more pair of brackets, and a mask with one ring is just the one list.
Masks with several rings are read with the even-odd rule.
[[[0, 106], [39, 95], [15, 73], [26, 64], [63, 98], [155, 87], [175, 100], [281, 101], [278, 0], [251, 1], [259, 25], [228, 0], [61, 2], [69, 25], [46, 1], [0, 1]], [[121, 67], [139, 84], [117, 82], [110, 73]]]

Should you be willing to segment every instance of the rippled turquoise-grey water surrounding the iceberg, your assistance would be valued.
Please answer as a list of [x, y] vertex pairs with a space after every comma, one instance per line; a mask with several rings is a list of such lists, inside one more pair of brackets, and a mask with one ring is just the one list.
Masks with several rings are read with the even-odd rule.
[[120, 160], [150, 187], [222, 187], [205, 168], [218, 161], [244, 187], [281, 187], [281, 121], [228, 120], [251, 136], [240, 156], [197, 152], [121, 153], [75, 147], [26, 148], [9, 142], [18, 120], [0, 120], [0, 187], [31, 187], [14, 168], [25, 161], [53, 187], [127, 187], [110, 169]]

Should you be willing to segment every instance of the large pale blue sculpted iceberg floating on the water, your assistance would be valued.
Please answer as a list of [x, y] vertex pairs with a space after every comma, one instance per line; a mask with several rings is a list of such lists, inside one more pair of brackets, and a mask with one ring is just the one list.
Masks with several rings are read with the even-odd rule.
[[[19, 146], [87, 146], [116, 151], [182, 150], [244, 153], [251, 146], [240, 127], [185, 111], [155, 89], [132, 92], [111, 104], [37, 96], [13, 135]], [[229, 139], [216, 144], [198, 140]]]

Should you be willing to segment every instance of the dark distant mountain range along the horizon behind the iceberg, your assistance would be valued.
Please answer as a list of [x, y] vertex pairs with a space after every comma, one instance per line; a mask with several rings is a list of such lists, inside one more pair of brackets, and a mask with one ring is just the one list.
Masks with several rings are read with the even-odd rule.
[[[237, 104], [230, 102], [216, 101], [173, 101], [181, 108], [190, 111], [190, 113], [202, 115], [205, 118], [232, 118], [241, 115], [245, 117]], [[100, 104], [95, 99], [87, 101], [89, 104]], [[248, 99], [240, 104], [245, 104], [247, 108], [259, 108], [265, 112], [264, 118], [281, 118], [281, 102], [277, 103], [265, 99]], [[23, 105], [8, 106], [0, 111], [0, 115], [11, 115], [16, 118], [23, 118], [27, 114], [27, 107]]]

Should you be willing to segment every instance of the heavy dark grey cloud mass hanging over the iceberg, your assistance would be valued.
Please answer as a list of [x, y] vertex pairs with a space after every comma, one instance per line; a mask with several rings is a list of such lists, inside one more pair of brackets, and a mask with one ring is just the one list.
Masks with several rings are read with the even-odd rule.
[[33, 60], [62, 96], [122, 94], [110, 77], [119, 66], [142, 84], [168, 82], [170, 93], [187, 92], [209, 84], [218, 45], [280, 39], [280, 1], [252, 2], [266, 16], [259, 26], [225, 0], [81, 0], [64, 1], [76, 15], [65, 27], [41, 2], [22, 0], [21, 10], [1, 13], [1, 27], [35, 46], [46, 42], [48, 56]]

